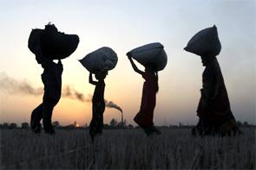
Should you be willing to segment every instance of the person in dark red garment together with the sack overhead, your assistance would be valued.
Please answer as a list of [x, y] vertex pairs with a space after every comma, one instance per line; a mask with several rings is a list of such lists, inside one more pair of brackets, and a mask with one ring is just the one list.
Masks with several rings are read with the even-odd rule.
[[[161, 43], [154, 42], [137, 47], [128, 52], [127, 55], [135, 72], [141, 74], [142, 78], [145, 79], [142, 90], [141, 108], [134, 118], [135, 123], [145, 131], [146, 135], [160, 135], [161, 132], [154, 127], [153, 118], [156, 93], [159, 90], [158, 72], [163, 70], [167, 65], [167, 54]], [[145, 72], [138, 69], [133, 58], [141, 63], [142, 66], [145, 66]]]

